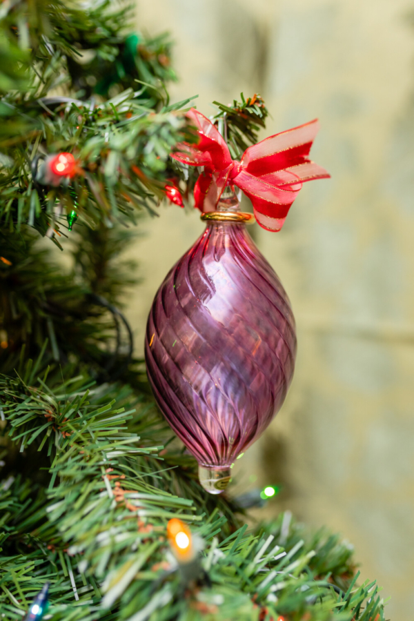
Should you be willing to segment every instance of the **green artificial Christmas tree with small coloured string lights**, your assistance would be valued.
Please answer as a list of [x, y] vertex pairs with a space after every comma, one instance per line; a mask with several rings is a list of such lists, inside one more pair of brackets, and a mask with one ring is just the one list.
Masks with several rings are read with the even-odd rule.
[[[168, 40], [127, 18], [106, 0], [0, 7], [0, 615], [384, 620], [338, 538], [288, 513], [250, 532], [246, 502], [204, 493], [132, 357], [122, 225], [197, 175], [170, 158], [196, 135], [168, 102]], [[237, 158], [266, 108], [218, 108]], [[41, 236], [70, 237], [72, 271]]]

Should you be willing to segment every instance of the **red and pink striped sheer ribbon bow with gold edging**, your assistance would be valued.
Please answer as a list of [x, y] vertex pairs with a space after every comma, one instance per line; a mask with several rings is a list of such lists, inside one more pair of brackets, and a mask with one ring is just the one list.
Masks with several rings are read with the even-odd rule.
[[319, 129], [317, 119], [262, 140], [237, 161], [209, 119], [194, 108], [187, 117], [197, 128], [199, 141], [180, 143], [172, 157], [190, 166], [204, 166], [194, 188], [195, 206], [204, 213], [215, 211], [224, 188], [234, 184], [252, 201], [260, 226], [280, 230], [302, 182], [330, 177], [306, 157]]

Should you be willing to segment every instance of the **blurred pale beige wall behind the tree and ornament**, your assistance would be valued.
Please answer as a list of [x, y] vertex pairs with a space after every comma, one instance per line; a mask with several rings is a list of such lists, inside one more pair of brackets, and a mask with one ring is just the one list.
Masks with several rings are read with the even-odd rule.
[[[341, 531], [363, 577], [392, 595], [395, 621], [414, 617], [410, 10], [406, 0], [137, 1], [138, 28], [176, 41], [173, 100], [198, 94], [208, 115], [213, 99], [259, 91], [268, 134], [321, 121], [313, 159], [332, 179], [304, 186], [281, 233], [255, 230], [290, 295], [299, 351], [282, 412], [237, 462], [238, 488], [280, 482], [267, 515], [290, 508]], [[203, 228], [197, 213], [160, 211], [135, 252], [139, 352], [155, 291]]]

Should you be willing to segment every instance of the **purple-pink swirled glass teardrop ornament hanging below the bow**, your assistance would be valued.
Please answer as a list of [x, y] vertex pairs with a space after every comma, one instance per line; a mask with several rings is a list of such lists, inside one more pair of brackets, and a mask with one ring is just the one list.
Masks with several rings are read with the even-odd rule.
[[155, 295], [146, 365], [166, 420], [210, 493], [281, 408], [293, 376], [295, 320], [245, 224], [210, 221]]

